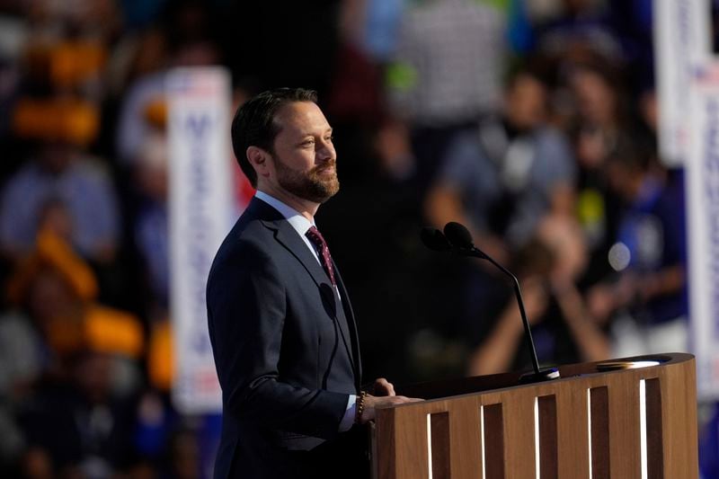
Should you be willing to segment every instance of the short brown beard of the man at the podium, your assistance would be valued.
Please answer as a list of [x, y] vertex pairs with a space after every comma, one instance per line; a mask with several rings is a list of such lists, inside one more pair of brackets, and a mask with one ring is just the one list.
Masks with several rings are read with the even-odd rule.
[[[340, 181], [337, 179], [336, 160], [318, 164], [308, 172], [300, 172], [290, 168], [280, 158], [275, 157], [277, 181], [280, 186], [298, 198], [324, 203], [340, 191]], [[326, 169], [333, 169], [331, 176], [324, 176]]]

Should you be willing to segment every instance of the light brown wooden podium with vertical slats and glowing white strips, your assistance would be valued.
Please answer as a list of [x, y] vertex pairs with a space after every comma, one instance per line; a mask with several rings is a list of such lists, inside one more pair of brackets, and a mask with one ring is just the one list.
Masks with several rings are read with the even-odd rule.
[[377, 410], [374, 477], [698, 477], [692, 355], [559, 370], [560, 379], [529, 385], [508, 373], [400, 388], [427, 401]]

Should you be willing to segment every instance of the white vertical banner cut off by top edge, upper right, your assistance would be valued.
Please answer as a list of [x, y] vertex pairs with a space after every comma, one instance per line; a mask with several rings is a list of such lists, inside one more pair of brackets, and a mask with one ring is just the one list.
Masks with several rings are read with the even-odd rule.
[[692, 68], [711, 52], [709, 0], [654, 0], [659, 149], [667, 166], [684, 164], [691, 119]]

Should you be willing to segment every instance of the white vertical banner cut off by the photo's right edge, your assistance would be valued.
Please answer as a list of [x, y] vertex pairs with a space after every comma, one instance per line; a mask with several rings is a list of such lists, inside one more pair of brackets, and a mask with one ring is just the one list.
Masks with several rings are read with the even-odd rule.
[[719, 397], [719, 62], [695, 68], [686, 164], [689, 315], [697, 393]]

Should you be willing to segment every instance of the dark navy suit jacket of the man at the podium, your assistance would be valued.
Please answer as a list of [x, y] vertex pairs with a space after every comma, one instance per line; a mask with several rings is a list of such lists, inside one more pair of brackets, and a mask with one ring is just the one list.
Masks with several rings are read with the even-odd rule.
[[359, 453], [338, 432], [360, 368], [335, 276], [342, 301], [297, 231], [256, 198], [220, 246], [207, 289], [223, 394], [216, 479], [342, 477], [330, 469]]

